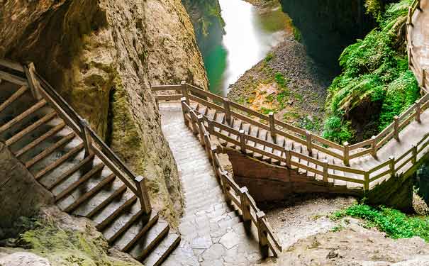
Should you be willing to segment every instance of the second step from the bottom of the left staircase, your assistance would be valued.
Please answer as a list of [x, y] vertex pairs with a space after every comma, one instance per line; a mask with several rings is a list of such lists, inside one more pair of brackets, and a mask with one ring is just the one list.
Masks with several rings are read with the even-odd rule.
[[[149, 231], [145, 233], [144, 238], [140, 238], [130, 250], [130, 255], [136, 260], [143, 260], [147, 254], [157, 246], [169, 231], [168, 223], [158, 221], [155, 226], [152, 226]], [[124, 250], [123, 250], [124, 251]]]

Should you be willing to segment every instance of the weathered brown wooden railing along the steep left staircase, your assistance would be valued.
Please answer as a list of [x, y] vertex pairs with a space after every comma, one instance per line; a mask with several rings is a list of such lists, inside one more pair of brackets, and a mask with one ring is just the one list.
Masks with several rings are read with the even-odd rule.
[[[95, 154], [104, 164], [126, 184], [138, 199], [142, 210], [146, 214], [150, 213], [152, 207], [150, 198], [147, 194], [147, 179], [136, 176], [119, 157], [113, 153], [111, 148], [97, 135], [90, 127], [87, 121], [84, 121], [79, 114], [62, 99], [62, 96], [53, 89], [48, 82], [35, 71], [33, 64], [20, 65], [9, 60], [0, 59], [0, 66], [6, 67], [16, 73], [9, 73], [0, 70], [0, 79], [5, 79], [20, 86], [29, 87], [36, 99], [45, 99], [50, 106], [57, 112], [58, 116], [65, 121], [67, 126], [79, 135], [84, 142], [85, 157]], [[23, 76], [23, 77], [21, 77]], [[25, 76], [25, 78], [24, 78]]]

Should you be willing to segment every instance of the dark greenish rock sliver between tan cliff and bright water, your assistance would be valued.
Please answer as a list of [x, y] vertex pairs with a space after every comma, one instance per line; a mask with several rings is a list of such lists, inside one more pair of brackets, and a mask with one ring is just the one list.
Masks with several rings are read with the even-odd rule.
[[203, 55], [222, 43], [225, 22], [219, 1], [182, 0], [194, 25], [196, 39]]

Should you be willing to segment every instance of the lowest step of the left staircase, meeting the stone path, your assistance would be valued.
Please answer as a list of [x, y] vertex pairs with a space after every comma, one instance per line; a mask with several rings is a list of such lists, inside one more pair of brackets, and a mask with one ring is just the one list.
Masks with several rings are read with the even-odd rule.
[[180, 235], [176, 233], [170, 233], [167, 237], [162, 240], [162, 242], [152, 250], [152, 252], [147, 255], [145, 260], [143, 260], [143, 264], [145, 266], [160, 266], [162, 262], [167, 259], [168, 255], [173, 252], [175, 248], [180, 243]]

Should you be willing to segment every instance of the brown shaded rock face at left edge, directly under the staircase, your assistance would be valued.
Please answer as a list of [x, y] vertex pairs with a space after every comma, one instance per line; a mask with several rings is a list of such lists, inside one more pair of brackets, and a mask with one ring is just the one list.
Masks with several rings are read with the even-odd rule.
[[[20, 216], [33, 216], [52, 204], [53, 195], [35, 181], [26, 167], [0, 142], [0, 238], [13, 235]], [[18, 230], [18, 229], [17, 229]], [[1, 262], [0, 262], [1, 265]]]

